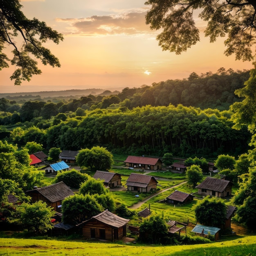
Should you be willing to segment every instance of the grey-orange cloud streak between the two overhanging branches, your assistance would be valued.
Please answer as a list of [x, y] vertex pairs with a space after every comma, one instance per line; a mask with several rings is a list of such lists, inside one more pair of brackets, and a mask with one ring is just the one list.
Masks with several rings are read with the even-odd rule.
[[88, 18], [57, 18], [58, 22], [66, 22], [69, 27], [64, 34], [79, 34], [81, 36], [107, 35], [141, 35], [154, 34], [145, 24], [146, 12], [119, 13], [108, 16], [91, 16]]

